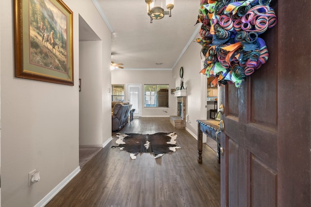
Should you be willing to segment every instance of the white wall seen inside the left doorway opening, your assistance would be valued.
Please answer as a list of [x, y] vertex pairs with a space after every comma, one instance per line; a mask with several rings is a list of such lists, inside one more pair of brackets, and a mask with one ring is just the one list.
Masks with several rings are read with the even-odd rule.
[[103, 144], [101, 41], [81, 41], [80, 48], [80, 122], [79, 145]]

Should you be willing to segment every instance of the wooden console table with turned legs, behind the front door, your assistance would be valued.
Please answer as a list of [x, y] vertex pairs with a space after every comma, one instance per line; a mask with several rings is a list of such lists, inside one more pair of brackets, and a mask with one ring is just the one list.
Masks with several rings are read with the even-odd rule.
[[[203, 133], [217, 142], [217, 159], [220, 163], [220, 127], [219, 121], [197, 120], [198, 122], [198, 163], [202, 163]], [[218, 133], [216, 133], [218, 132]], [[217, 135], [217, 137], [216, 137]]]

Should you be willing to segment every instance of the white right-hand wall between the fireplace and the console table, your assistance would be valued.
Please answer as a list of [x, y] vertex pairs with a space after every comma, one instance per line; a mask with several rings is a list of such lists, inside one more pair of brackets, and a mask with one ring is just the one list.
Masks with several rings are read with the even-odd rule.
[[[182, 58], [173, 68], [173, 76], [176, 77], [176, 87], [180, 85], [179, 69], [184, 68], [184, 84], [187, 86], [187, 106], [186, 113], [189, 114], [190, 122], [186, 123], [186, 128], [194, 135], [197, 135], [197, 122], [199, 119], [206, 119], [206, 77], [199, 72], [201, 71], [200, 51], [202, 46], [192, 42]], [[205, 90], [205, 91], [203, 91]], [[201, 96], [201, 94], [203, 96]], [[205, 95], [204, 95], [205, 94]]]

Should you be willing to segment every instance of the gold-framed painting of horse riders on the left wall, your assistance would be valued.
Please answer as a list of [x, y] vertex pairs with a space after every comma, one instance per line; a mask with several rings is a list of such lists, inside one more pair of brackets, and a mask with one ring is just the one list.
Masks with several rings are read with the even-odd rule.
[[14, 0], [15, 77], [73, 85], [72, 11], [62, 0]]

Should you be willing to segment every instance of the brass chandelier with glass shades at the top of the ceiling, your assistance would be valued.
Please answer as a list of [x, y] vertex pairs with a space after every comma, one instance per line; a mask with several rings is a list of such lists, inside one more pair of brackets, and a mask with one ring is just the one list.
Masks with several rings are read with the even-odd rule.
[[164, 15], [172, 16], [172, 9], [174, 8], [174, 0], [166, 0], [166, 8], [169, 11], [164, 11], [162, 8], [162, 0], [145, 0], [148, 4], [148, 16], [150, 16], [150, 23], [153, 19], [161, 19]]

